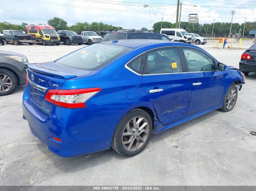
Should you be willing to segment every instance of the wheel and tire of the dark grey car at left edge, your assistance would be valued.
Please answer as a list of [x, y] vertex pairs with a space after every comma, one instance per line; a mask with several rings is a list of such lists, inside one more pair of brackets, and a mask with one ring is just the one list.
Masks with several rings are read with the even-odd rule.
[[18, 80], [15, 74], [10, 70], [0, 68], [0, 96], [11, 94], [17, 85]]

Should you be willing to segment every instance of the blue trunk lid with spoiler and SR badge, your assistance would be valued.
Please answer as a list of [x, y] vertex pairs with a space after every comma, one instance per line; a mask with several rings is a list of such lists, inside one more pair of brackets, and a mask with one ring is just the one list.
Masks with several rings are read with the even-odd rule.
[[53, 104], [45, 100], [50, 89], [61, 89], [63, 83], [70, 78], [88, 75], [92, 71], [78, 70], [55, 65], [54, 62], [28, 65], [28, 99], [35, 109], [47, 117]]

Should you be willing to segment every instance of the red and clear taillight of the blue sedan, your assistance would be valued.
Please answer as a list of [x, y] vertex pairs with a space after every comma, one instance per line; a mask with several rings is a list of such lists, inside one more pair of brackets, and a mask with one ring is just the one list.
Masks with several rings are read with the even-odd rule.
[[101, 88], [86, 88], [74, 90], [49, 90], [45, 95], [45, 100], [54, 105], [65, 108], [86, 107], [85, 102], [101, 91]]

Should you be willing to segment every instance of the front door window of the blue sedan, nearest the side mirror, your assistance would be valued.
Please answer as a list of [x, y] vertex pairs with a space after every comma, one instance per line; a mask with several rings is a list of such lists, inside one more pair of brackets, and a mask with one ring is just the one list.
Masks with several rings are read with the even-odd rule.
[[206, 72], [215, 70], [213, 60], [206, 54], [195, 49], [182, 49], [188, 62], [189, 72]]

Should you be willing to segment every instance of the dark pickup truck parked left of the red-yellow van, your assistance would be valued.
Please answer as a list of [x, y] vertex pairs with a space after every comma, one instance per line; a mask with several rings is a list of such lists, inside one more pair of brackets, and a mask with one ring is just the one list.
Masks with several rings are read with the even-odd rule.
[[28, 43], [29, 45], [35, 44], [35, 37], [30, 34], [26, 34], [23, 30], [3, 30], [5, 43], [14, 43], [19, 45], [22, 43]]

